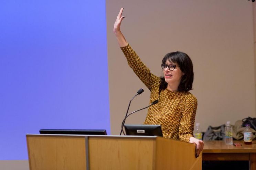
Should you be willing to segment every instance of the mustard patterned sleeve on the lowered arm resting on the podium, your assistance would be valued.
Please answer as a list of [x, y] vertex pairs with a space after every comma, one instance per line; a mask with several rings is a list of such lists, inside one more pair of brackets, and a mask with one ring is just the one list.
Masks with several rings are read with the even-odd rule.
[[183, 103], [184, 112], [179, 127], [179, 139], [184, 142], [189, 142], [189, 138], [193, 136], [195, 113], [198, 102], [194, 96], [190, 96]]

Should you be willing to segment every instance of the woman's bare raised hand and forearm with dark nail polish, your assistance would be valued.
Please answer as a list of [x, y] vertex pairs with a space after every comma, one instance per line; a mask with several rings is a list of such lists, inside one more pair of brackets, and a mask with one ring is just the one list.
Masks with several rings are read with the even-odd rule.
[[125, 18], [125, 16], [122, 16], [123, 10], [124, 8], [120, 9], [119, 14], [116, 17], [116, 22], [114, 24], [114, 30], [113, 30], [120, 47], [125, 47], [128, 45], [128, 42], [126, 41], [125, 36], [121, 33], [121, 30], [120, 30], [121, 22]]

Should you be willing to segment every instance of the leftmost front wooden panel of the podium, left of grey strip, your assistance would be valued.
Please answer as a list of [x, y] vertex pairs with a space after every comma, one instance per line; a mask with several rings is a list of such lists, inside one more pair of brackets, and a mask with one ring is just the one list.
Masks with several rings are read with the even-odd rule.
[[86, 170], [84, 136], [26, 135], [30, 170]]

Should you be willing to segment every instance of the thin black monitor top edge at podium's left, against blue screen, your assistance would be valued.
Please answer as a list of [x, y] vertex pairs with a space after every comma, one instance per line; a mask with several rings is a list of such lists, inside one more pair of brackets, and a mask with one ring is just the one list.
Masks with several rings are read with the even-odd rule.
[[85, 129], [40, 129], [40, 134], [65, 134], [65, 135], [107, 135], [106, 130]]

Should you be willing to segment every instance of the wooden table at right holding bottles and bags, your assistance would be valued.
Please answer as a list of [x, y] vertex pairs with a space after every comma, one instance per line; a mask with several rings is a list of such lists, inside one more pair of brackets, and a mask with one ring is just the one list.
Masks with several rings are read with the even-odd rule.
[[252, 145], [245, 145], [243, 141], [233, 142], [242, 146], [225, 145], [224, 141], [204, 141], [203, 160], [247, 160], [249, 169], [256, 170], [256, 141]]

